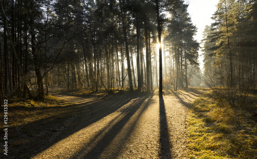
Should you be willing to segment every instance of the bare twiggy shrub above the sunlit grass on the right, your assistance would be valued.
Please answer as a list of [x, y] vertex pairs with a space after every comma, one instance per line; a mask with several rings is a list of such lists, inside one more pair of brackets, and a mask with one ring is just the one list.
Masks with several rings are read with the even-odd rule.
[[254, 90], [256, 82], [252, 82], [248, 77], [234, 77], [232, 85], [230, 75], [224, 72], [216, 72], [210, 76], [205, 72], [202, 82], [212, 91], [206, 92], [220, 106], [242, 107], [249, 93]]

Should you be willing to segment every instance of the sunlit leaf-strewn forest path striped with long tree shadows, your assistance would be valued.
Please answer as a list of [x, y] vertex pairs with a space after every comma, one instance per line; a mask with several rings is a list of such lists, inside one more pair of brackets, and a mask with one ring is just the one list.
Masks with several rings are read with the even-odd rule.
[[187, 112], [202, 92], [114, 94], [91, 97], [55, 94], [80, 105], [58, 141], [38, 158], [186, 158]]

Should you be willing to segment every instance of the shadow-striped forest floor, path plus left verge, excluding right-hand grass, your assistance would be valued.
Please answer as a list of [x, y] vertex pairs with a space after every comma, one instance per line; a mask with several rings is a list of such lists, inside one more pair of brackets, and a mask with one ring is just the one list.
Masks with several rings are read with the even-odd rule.
[[202, 93], [51, 93], [9, 126], [8, 158], [187, 158], [189, 107]]

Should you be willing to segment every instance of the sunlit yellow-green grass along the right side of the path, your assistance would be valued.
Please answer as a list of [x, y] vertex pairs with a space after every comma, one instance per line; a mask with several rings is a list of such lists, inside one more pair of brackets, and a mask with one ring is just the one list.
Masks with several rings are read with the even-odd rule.
[[241, 109], [235, 109], [217, 106], [207, 94], [196, 98], [189, 116], [188, 158], [257, 158], [257, 124], [252, 115], [256, 99], [251, 94]]

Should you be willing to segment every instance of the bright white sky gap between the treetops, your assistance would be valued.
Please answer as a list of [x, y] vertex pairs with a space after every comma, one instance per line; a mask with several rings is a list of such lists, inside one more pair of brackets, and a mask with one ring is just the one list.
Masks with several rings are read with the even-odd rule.
[[[197, 35], [195, 39], [200, 42], [203, 38], [203, 31], [206, 25], [211, 25], [213, 20], [212, 14], [216, 11], [216, 5], [219, 0], [186, 0], [188, 13], [191, 15], [192, 23], [196, 25]], [[199, 52], [201, 55], [202, 52]], [[203, 57], [199, 58], [200, 68], [203, 69]]]

